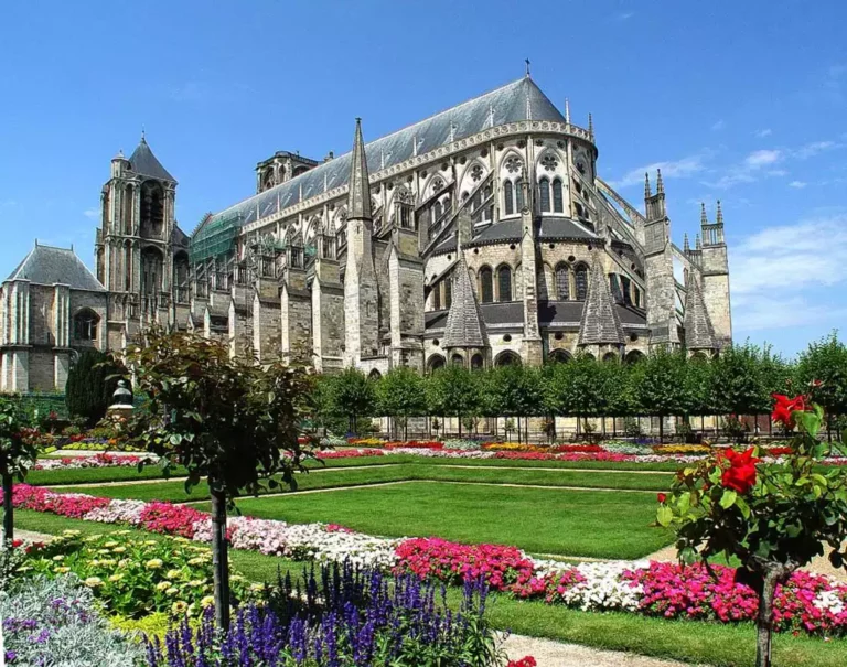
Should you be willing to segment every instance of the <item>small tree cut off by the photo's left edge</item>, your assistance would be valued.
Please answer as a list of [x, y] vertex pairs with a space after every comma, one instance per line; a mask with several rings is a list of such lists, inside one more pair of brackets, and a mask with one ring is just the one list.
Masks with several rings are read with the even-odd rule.
[[3, 540], [14, 538], [12, 491], [14, 478], [23, 482], [35, 463], [39, 449], [23, 437], [26, 420], [18, 401], [0, 397], [0, 478], [3, 483]]

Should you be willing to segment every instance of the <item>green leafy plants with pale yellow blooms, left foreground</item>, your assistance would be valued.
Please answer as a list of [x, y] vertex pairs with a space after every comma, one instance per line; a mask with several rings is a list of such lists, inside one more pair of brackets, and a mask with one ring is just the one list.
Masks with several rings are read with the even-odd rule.
[[[46, 577], [74, 573], [110, 612], [139, 618], [153, 612], [200, 614], [212, 604], [212, 555], [189, 540], [139, 540], [128, 530], [82, 538], [65, 531], [34, 550], [26, 566]], [[233, 599], [250, 587], [230, 577]]]

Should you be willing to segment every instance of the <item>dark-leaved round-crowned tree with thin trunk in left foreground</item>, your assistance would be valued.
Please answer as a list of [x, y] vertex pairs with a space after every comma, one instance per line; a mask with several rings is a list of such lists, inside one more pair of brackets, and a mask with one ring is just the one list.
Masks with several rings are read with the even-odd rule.
[[215, 620], [229, 625], [226, 512], [243, 492], [296, 487], [294, 472], [311, 450], [298, 443], [308, 410], [311, 377], [282, 362], [230, 357], [224, 342], [154, 329], [144, 345], [127, 348], [126, 361], [148, 409], [132, 418], [143, 448], [187, 469], [185, 490], [201, 480], [212, 496]]

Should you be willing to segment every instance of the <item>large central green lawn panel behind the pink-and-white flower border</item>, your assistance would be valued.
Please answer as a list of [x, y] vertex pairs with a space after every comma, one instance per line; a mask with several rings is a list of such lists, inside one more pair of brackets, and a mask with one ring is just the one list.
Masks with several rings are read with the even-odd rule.
[[335, 523], [389, 537], [438, 536], [513, 545], [535, 553], [635, 559], [665, 547], [647, 494], [409, 482], [272, 498], [242, 498], [242, 513]]

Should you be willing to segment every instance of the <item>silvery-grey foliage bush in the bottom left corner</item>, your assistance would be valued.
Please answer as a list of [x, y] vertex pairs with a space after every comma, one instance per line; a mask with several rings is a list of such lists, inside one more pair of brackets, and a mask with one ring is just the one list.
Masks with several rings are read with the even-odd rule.
[[135, 665], [140, 647], [109, 630], [75, 577], [28, 579], [0, 595], [6, 661], [52, 667]]

